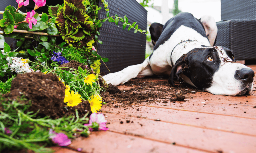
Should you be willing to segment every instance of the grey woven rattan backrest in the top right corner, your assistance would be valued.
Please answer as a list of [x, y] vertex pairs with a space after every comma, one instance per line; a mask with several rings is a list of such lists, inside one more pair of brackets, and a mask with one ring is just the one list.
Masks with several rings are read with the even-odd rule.
[[256, 0], [221, 0], [221, 20], [255, 18]]

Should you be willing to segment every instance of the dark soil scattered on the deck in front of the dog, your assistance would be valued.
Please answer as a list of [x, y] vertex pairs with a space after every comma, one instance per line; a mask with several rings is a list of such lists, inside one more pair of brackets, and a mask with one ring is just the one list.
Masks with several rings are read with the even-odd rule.
[[[121, 85], [121, 90], [109, 84], [106, 92], [102, 92], [102, 101], [106, 102], [105, 106], [110, 107], [127, 107], [131, 104], [150, 103], [176, 103], [185, 102], [186, 99], [191, 99], [191, 94], [201, 90], [196, 89], [188, 84], [178, 83], [176, 87], [171, 86], [167, 79], [143, 79], [135, 78]], [[113, 105], [118, 103], [118, 105]], [[145, 104], [145, 103], [144, 103]]]

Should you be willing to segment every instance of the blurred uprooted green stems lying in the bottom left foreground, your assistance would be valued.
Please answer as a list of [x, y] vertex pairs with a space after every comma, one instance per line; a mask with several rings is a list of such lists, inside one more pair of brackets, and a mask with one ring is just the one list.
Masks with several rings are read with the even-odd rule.
[[[62, 132], [72, 138], [74, 133], [88, 136], [88, 128], [84, 123], [88, 122], [88, 118], [84, 116], [79, 118], [78, 112], [76, 116], [63, 117], [59, 119], [50, 119], [49, 117], [38, 118], [35, 112], [28, 112], [31, 106], [30, 101], [20, 97], [18, 100], [9, 100], [0, 93], [0, 152], [3, 149], [21, 149], [27, 148], [35, 152], [46, 153], [52, 152], [49, 148], [44, 148], [46, 144], [52, 144], [49, 141], [49, 128], [57, 133]], [[77, 118], [75, 120], [75, 118]], [[5, 134], [5, 128], [13, 131], [12, 134]], [[83, 129], [77, 132], [73, 129]], [[41, 143], [38, 145], [36, 143]]]

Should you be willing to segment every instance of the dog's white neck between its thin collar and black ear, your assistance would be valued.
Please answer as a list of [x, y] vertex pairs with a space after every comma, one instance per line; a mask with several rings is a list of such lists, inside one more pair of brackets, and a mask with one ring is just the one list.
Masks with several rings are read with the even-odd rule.
[[[187, 54], [190, 50], [204, 45], [204, 42], [199, 42], [198, 40], [184, 40], [178, 43], [172, 50], [171, 53], [171, 63], [172, 66], [175, 65], [175, 62], [183, 55]], [[207, 44], [208, 45], [208, 44]], [[175, 53], [175, 54], [173, 54]]]

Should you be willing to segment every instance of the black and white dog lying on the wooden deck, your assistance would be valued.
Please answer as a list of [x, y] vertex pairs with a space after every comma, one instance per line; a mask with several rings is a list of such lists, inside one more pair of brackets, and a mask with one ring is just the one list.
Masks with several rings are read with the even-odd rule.
[[137, 76], [168, 74], [173, 86], [176, 76], [179, 82], [212, 94], [235, 96], [252, 91], [253, 70], [236, 63], [228, 48], [211, 46], [217, 35], [212, 17], [198, 20], [190, 13], [180, 13], [163, 26], [151, 26], [150, 31], [153, 53], [141, 64], [103, 76], [107, 83], [119, 85]]

